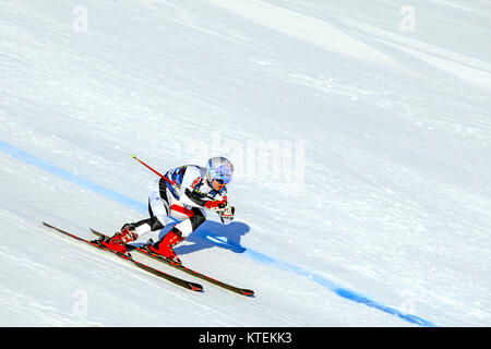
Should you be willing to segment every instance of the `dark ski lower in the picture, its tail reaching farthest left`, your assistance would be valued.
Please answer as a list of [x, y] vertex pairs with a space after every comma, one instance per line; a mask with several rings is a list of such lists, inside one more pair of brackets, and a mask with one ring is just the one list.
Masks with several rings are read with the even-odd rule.
[[97, 242], [93, 242], [93, 241], [89, 241], [89, 240], [82, 239], [82, 238], [80, 238], [80, 237], [77, 237], [75, 234], [72, 234], [72, 233], [70, 233], [68, 231], [64, 231], [64, 230], [62, 230], [60, 228], [53, 227], [53, 226], [51, 226], [51, 225], [49, 225], [49, 224], [47, 224], [45, 221], [43, 221], [43, 225], [45, 227], [48, 227], [48, 228], [50, 228], [50, 229], [52, 229], [52, 230], [55, 230], [57, 232], [60, 232], [60, 233], [62, 233], [64, 236], [71, 237], [73, 239], [76, 239], [76, 240], [82, 241], [84, 243], [87, 243], [89, 245], [93, 245], [94, 248], [97, 248], [97, 249], [100, 249], [100, 250], [113, 253], [113, 254], [118, 255], [119, 257], [121, 257], [121, 258], [132, 263], [133, 265], [135, 265], [140, 269], [148, 272], [148, 273], [151, 273], [151, 274], [153, 274], [155, 276], [158, 276], [159, 278], [166, 279], [166, 280], [168, 280], [168, 281], [170, 281], [170, 282], [172, 282], [175, 285], [181, 286], [181, 287], [183, 287], [185, 289], [189, 289], [191, 291], [202, 291], [203, 290], [203, 286], [201, 286], [200, 284], [190, 282], [190, 281], [187, 281], [184, 279], [178, 278], [176, 276], [166, 274], [166, 273], [164, 273], [161, 270], [155, 269], [155, 268], [153, 268], [153, 267], [151, 267], [151, 266], [148, 266], [146, 264], [143, 264], [143, 263], [139, 262], [139, 261], [133, 260], [133, 257], [131, 255], [125, 255], [125, 254], [121, 254], [121, 253], [118, 253], [116, 251], [109, 250], [106, 246], [104, 246], [101, 244], [98, 244]]

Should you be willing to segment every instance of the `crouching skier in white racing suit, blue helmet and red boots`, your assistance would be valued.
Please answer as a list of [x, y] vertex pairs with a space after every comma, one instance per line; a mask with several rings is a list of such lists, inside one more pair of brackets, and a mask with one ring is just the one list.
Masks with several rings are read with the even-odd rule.
[[[206, 167], [185, 165], [169, 170], [155, 181], [148, 196], [149, 218], [125, 224], [120, 232], [98, 243], [121, 254], [128, 254], [125, 244], [142, 234], [163, 229], [168, 217], [182, 219], [156, 243], [145, 249], [181, 263], [173, 246], [182, 242], [206, 220], [206, 210], [218, 213], [223, 224], [233, 219], [235, 207], [230, 206], [226, 184], [233, 173], [232, 164], [225, 157], [211, 158]], [[172, 184], [171, 184], [172, 183]]]

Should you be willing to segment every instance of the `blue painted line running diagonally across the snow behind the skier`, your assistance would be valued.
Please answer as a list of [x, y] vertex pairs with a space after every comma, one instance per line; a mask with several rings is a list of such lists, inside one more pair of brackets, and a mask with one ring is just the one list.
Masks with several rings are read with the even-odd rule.
[[[21, 160], [25, 164], [35, 166], [46, 172], [49, 172], [53, 176], [60, 177], [62, 179], [65, 179], [79, 186], [82, 186], [84, 189], [91, 190], [97, 194], [100, 194], [109, 200], [112, 200], [115, 202], [118, 202], [122, 205], [125, 205], [130, 208], [133, 208], [137, 212], [142, 212], [142, 213], [147, 213], [147, 205], [143, 204], [139, 201], [135, 201], [129, 196], [125, 196], [123, 194], [120, 194], [118, 192], [111, 191], [105, 186], [101, 186], [97, 183], [92, 182], [91, 180], [84, 179], [80, 176], [76, 176], [74, 173], [71, 173], [67, 170], [63, 170], [59, 167], [56, 167], [51, 164], [49, 164], [46, 160], [43, 160], [41, 158], [32, 155], [29, 153], [26, 153], [24, 151], [21, 151], [8, 143], [4, 143], [2, 141], [0, 141], [0, 151], [3, 152], [4, 154], [10, 155], [11, 157]], [[224, 243], [228, 243], [229, 242], [225, 242]], [[239, 248], [239, 246], [236, 246]], [[407, 322], [410, 322], [412, 324], [417, 324], [420, 326], [428, 326], [428, 327], [433, 327], [435, 326], [434, 324], [432, 324], [429, 321], [426, 321], [421, 317], [415, 316], [415, 315], [410, 315], [410, 314], [405, 314], [402, 311], [395, 309], [395, 308], [391, 308], [387, 305], [384, 305], [380, 302], [376, 302], [374, 300], [371, 300], [370, 298], [368, 298], [367, 296], [363, 296], [361, 293], [357, 293], [355, 291], [348, 290], [346, 288], [339, 287], [336, 284], [330, 281], [328, 279], [326, 279], [325, 277], [315, 275], [307, 269], [303, 269], [299, 266], [296, 266], [294, 264], [290, 264], [288, 262], [284, 262], [284, 261], [277, 261], [275, 258], [272, 258], [268, 255], [265, 255], [261, 252], [254, 251], [252, 249], [244, 249], [243, 246], [240, 246], [240, 249], [246, 250], [244, 254], [249, 255], [250, 257], [252, 257], [253, 260], [264, 263], [264, 264], [271, 264], [274, 265], [277, 268], [284, 269], [284, 270], [288, 270], [288, 272], [292, 272], [297, 275], [303, 276], [309, 278], [310, 280], [330, 289], [331, 291], [333, 291], [334, 293], [338, 294], [339, 297], [343, 297], [345, 299], [351, 300], [354, 302], [358, 302], [358, 303], [362, 303], [366, 304], [368, 306], [378, 309], [380, 311], [383, 311], [385, 313], [398, 316]]]

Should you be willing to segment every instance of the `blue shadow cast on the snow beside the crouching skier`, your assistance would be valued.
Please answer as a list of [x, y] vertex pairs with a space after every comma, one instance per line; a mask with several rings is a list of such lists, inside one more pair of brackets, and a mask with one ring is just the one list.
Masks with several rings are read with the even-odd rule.
[[[243, 253], [244, 248], [240, 245], [240, 238], [248, 233], [250, 227], [240, 221], [223, 225], [217, 221], [206, 220], [194, 232], [185, 239], [187, 244], [177, 246], [173, 251], [178, 255], [193, 253], [204, 249], [220, 248], [236, 253]], [[192, 244], [189, 244], [192, 242]]]

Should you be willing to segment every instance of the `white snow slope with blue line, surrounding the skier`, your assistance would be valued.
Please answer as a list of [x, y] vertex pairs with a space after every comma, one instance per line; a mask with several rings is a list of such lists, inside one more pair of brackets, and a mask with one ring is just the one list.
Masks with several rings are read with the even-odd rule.
[[[491, 325], [489, 1], [5, 0], [0, 82], [2, 326]], [[254, 298], [41, 226], [145, 218], [131, 154], [235, 163], [176, 251]]]

